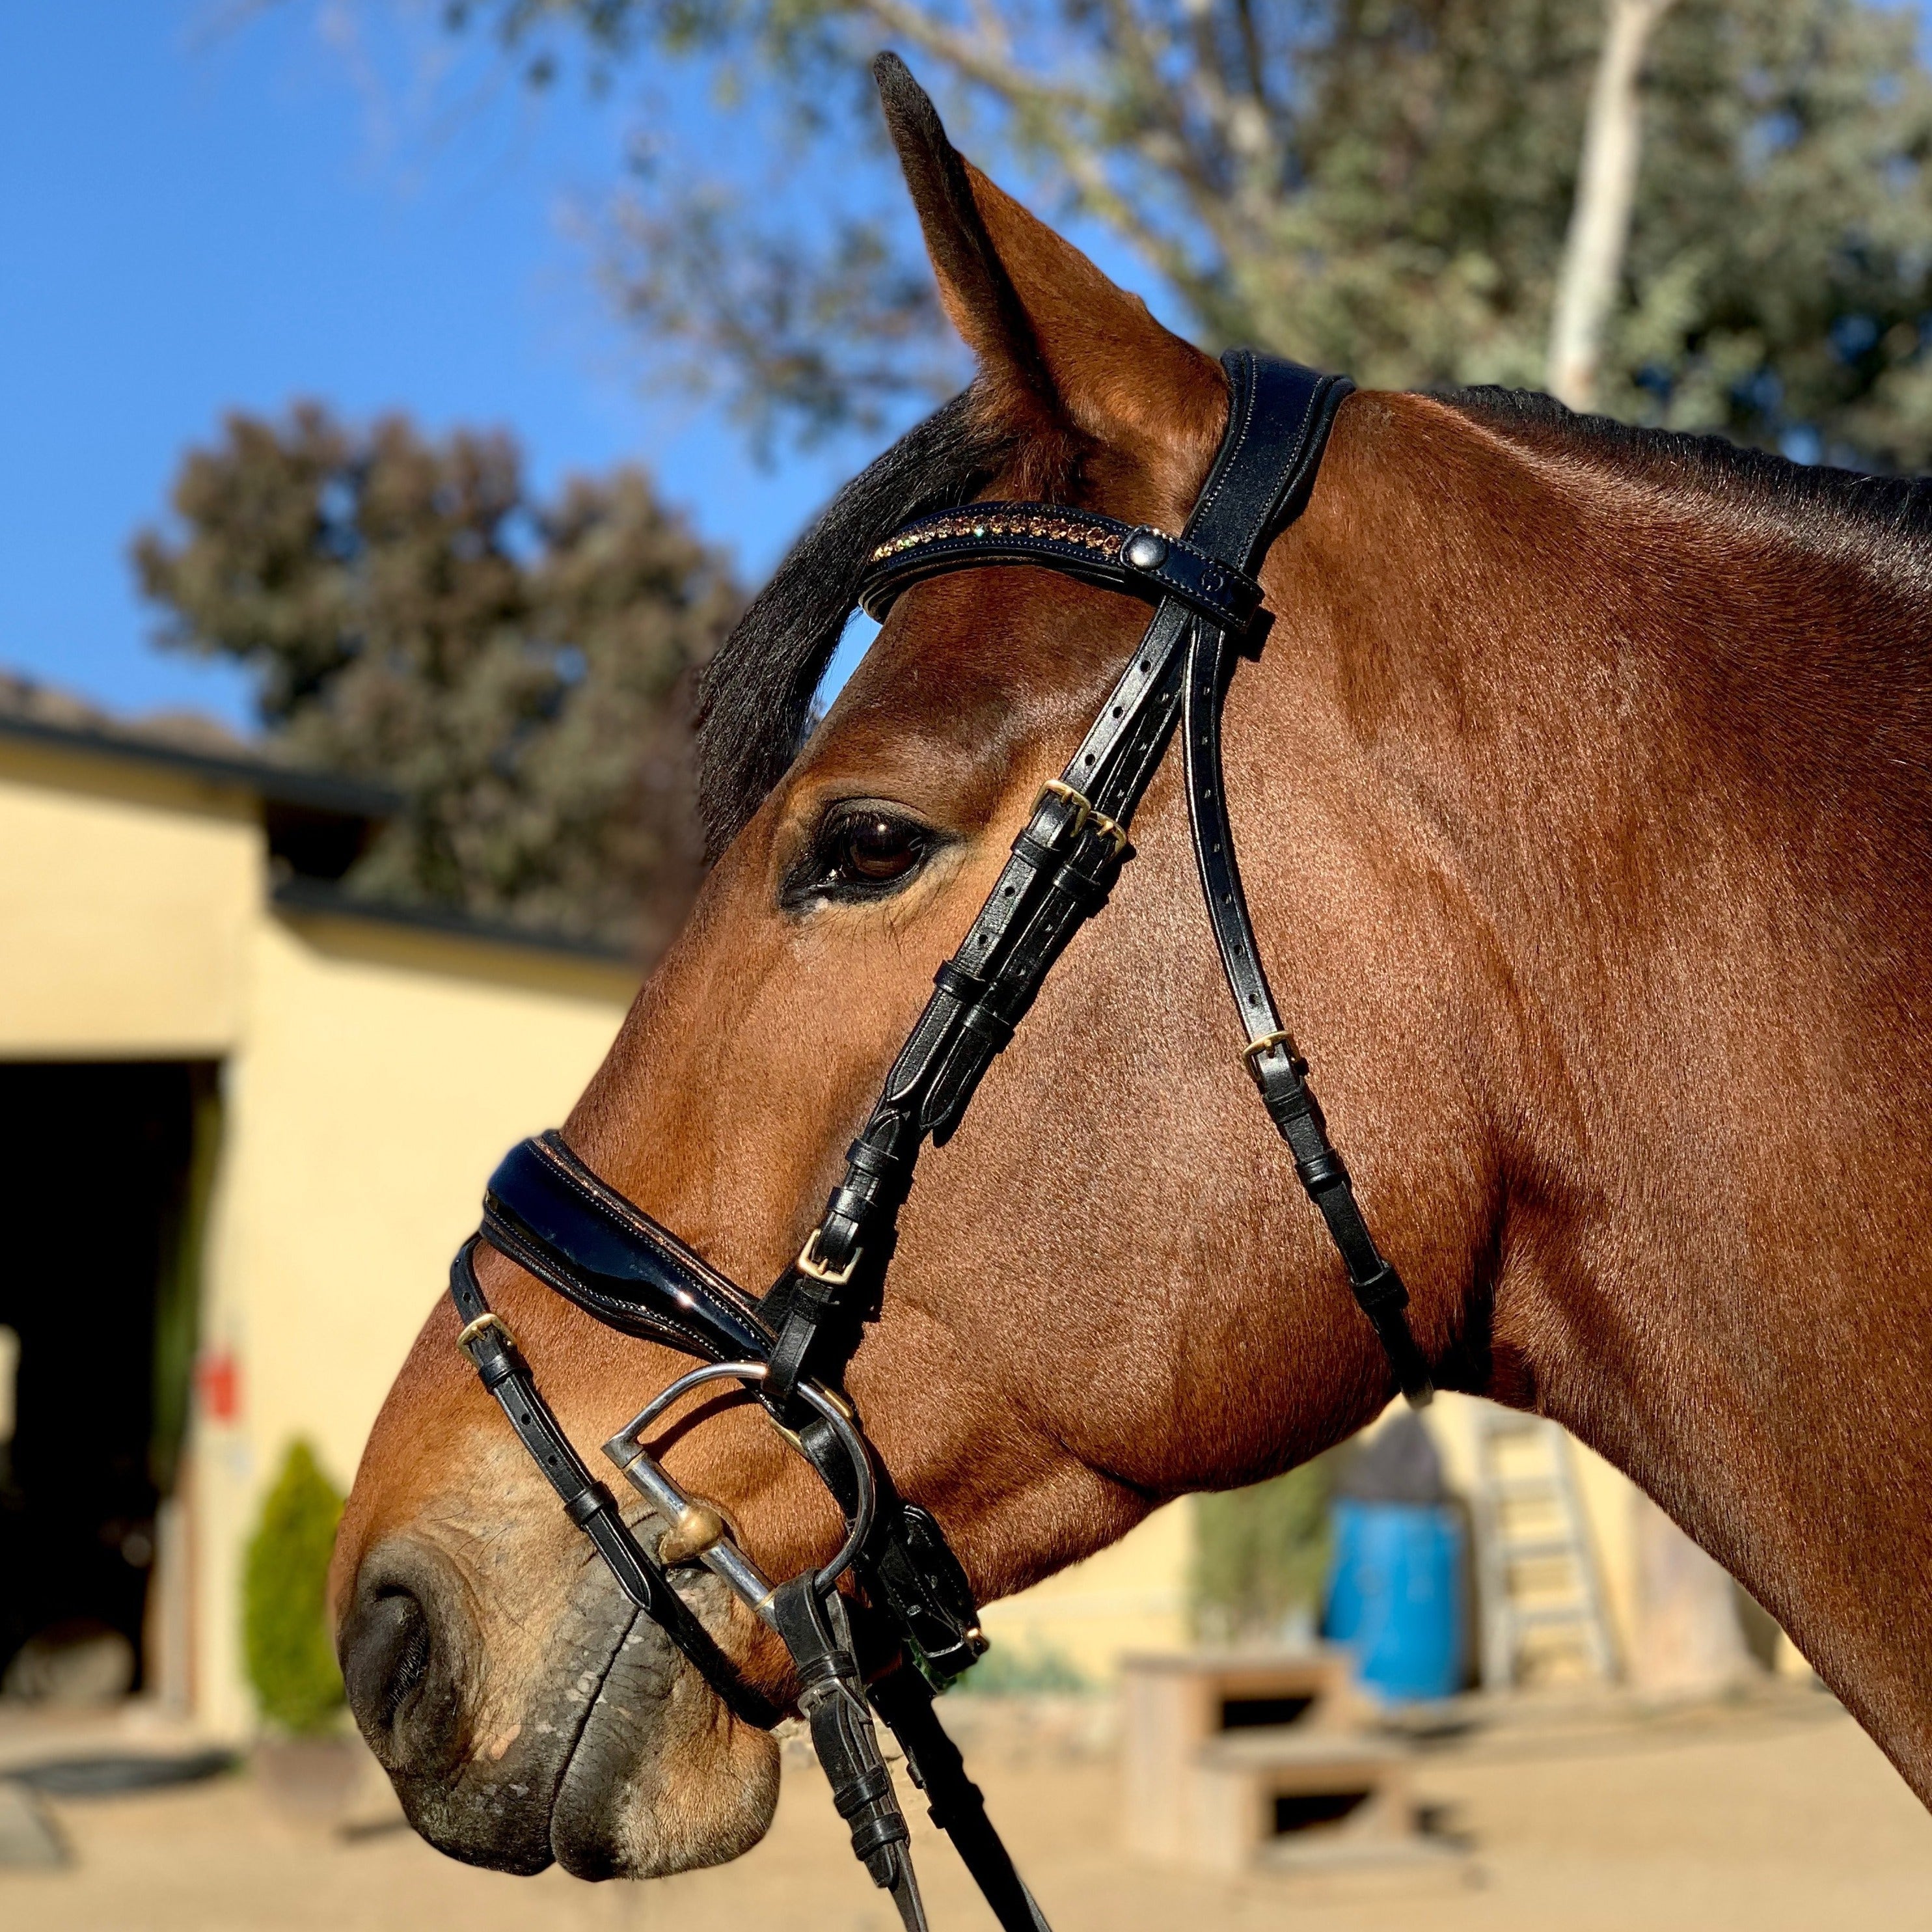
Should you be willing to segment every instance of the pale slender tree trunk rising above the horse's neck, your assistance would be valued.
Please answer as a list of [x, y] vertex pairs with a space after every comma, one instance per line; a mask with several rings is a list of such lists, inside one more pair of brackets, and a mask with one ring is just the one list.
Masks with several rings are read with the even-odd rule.
[[1573, 410], [1596, 402], [1596, 365], [1604, 325], [1617, 298], [1623, 251], [1631, 240], [1631, 199], [1642, 147], [1638, 79], [1650, 29], [1671, 0], [1604, 0], [1604, 52], [1590, 89], [1577, 203], [1563, 243], [1557, 307], [1549, 327], [1549, 394]]

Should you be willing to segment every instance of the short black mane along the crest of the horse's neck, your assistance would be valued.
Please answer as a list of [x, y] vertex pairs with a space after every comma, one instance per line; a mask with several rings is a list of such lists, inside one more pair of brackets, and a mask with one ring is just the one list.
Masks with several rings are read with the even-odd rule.
[[1932, 537], [1932, 477], [1799, 464], [1725, 437], [1638, 429], [1607, 415], [1578, 415], [1528, 388], [1459, 388], [1437, 400], [1532, 448], [1594, 456], [1671, 495], [1690, 491], [1747, 516], [1768, 516], [1812, 547]]

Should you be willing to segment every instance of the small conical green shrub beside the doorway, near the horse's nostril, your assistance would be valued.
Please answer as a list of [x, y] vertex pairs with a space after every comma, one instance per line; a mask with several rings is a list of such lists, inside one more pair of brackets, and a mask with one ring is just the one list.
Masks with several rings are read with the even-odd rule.
[[247, 1546], [242, 1650], [263, 1721], [296, 1737], [327, 1731], [342, 1708], [325, 1604], [340, 1520], [342, 1495], [315, 1451], [290, 1443]]

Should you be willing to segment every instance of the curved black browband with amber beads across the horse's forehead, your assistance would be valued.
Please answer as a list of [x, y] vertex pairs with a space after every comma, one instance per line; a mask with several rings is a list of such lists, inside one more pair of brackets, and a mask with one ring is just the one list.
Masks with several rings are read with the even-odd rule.
[[1097, 510], [1051, 502], [976, 502], [922, 516], [871, 553], [858, 599], [883, 620], [900, 591], [980, 564], [1047, 564], [1065, 576], [1188, 609], [1244, 632], [1262, 609], [1262, 585], [1246, 572], [1151, 524], [1122, 524]]

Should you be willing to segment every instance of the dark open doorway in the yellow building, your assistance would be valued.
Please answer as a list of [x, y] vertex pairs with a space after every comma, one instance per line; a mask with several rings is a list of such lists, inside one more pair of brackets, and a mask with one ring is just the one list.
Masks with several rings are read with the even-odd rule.
[[218, 1122], [207, 1061], [0, 1065], [0, 1673], [120, 1633], [141, 1685], [155, 1513], [174, 1486]]

